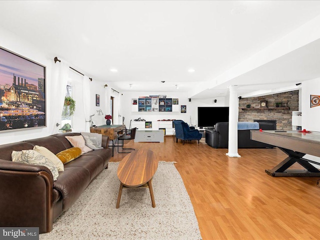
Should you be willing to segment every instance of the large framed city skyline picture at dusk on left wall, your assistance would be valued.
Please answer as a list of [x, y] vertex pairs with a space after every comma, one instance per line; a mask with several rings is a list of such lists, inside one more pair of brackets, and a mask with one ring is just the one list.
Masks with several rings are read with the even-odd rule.
[[45, 66], [0, 47], [0, 131], [44, 126]]

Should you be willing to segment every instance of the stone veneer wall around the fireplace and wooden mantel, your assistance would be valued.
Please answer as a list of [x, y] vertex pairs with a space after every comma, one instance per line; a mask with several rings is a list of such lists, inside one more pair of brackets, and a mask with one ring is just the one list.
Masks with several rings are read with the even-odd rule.
[[[267, 107], [261, 109], [260, 101], [266, 100]], [[284, 107], [275, 107], [282, 102]], [[251, 104], [250, 108], [246, 108]], [[246, 108], [246, 109], [241, 109]], [[239, 121], [276, 120], [277, 130], [292, 130], [292, 111], [299, 109], [299, 91], [287, 91], [266, 96], [245, 97], [239, 99]]]

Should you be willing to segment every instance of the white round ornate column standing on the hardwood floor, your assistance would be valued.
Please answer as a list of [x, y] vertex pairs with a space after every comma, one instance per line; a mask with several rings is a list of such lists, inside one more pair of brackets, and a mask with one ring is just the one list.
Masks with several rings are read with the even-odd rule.
[[229, 88], [229, 141], [228, 152], [226, 155], [239, 157], [238, 154], [238, 114], [239, 103], [237, 96], [237, 85], [228, 86]]

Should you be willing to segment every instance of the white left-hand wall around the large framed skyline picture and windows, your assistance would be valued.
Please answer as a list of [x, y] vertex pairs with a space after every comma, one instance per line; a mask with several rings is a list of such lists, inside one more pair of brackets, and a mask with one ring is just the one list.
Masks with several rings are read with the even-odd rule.
[[[11, 143], [16, 141], [22, 141], [26, 139], [32, 139], [37, 137], [43, 137], [50, 135], [49, 127], [54, 124], [51, 120], [51, 113], [54, 111], [54, 92], [57, 89], [53, 88], [51, 84], [51, 69], [52, 65], [55, 64], [53, 58], [55, 55], [45, 56], [40, 49], [35, 45], [26, 40], [23, 37], [12, 34], [10, 31], [0, 27], [0, 46], [6, 48], [12, 52], [29, 58], [35, 62], [38, 62], [46, 66], [45, 83], [46, 83], [46, 127], [18, 129], [10, 131], [0, 132], [0, 144]], [[81, 72], [81, 69], [76, 69]], [[75, 82], [72, 83], [73, 96], [77, 99], [75, 114], [73, 116], [73, 130], [82, 131], [84, 130], [85, 120], [83, 115], [83, 103], [82, 103], [82, 81], [80, 76], [74, 77]], [[100, 94], [100, 106], [95, 106], [95, 94]], [[104, 114], [109, 114], [110, 109], [108, 107], [110, 99], [110, 90], [107, 87], [103, 87], [102, 81], [92, 80], [90, 82], [90, 113], [93, 114], [96, 110], [102, 109]], [[92, 117], [96, 125], [105, 124], [104, 115], [95, 115]], [[60, 128], [61, 126], [57, 127]]]

